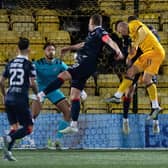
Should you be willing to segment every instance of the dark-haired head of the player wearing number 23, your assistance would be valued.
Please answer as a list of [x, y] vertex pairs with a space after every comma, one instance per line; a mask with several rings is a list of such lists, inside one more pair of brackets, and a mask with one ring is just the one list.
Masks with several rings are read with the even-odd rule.
[[20, 50], [20, 53], [23, 55], [27, 55], [29, 52], [29, 39], [25, 37], [20, 37], [18, 41], [18, 49]]

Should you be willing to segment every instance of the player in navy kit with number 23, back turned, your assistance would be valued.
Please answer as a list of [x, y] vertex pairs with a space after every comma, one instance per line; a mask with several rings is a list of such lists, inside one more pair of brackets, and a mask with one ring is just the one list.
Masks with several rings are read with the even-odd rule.
[[[3, 137], [4, 159], [16, 161], [11, 149], [16, 139], [29, 135], [33, 130], [32, 115], [29, 110], [28, 91], [37, 94], [35, 83], [36, 71], [28, 60], [29, 40], [20, 38], [18, 42], [19, 55], [5, 67], [0, 79], [0, 88], [4, 96], [5, 110], [11, 130]], [[9, 81], [8, 91], [5, 91], [5, 80]]]

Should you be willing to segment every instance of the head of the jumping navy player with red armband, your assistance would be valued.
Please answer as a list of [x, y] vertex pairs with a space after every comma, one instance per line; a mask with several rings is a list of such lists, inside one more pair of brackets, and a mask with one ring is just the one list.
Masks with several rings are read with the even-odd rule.
[[93, 31], [96, 26], [102, 25], [102, 16], [99, 14], [94, 14], [89, 20], [89, 31]]

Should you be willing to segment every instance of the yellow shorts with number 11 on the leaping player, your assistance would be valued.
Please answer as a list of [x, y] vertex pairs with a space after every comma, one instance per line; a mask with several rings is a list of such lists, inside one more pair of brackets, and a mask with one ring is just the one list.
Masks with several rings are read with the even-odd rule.
[[146, 72], [151, 75], [158, 73], [160, 65], [165, 58], [164, 50], [150, 50], [143, 53], [134, 63], [141, 72]]

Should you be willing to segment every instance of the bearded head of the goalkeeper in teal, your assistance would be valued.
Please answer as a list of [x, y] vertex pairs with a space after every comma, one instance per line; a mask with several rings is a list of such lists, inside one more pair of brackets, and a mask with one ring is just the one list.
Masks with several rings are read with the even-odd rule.
[[48, 60], [52, 60], [53, 57], [55, 56], [55, 50], [56, 50], [56, 46], [53, 42], [47, 42], [44, 44], [44, 53], [45, 53], [45, 57]]

